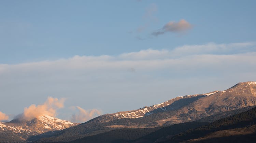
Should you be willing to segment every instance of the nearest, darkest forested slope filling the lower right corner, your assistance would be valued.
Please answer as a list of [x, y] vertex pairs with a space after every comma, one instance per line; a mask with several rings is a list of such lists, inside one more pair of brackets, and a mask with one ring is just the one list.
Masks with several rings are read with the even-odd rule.
[[[217, 120], [209, 125], [191, 129], [174, 137], [162, 139], [166, 142], [255, 142], [256, 108]], [[244, 140], [241, 140], [242, 138]], [[247, 138], [247, 139], [246, 139]]]

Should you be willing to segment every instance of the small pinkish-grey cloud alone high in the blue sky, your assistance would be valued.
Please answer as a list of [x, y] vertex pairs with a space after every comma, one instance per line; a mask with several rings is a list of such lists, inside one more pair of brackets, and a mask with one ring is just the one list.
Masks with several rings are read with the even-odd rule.
[[191, 28], [192, 28], [192, 25], [184, 19], [180, 20], [179, 22], [170, 21], [167, 24], [165, 24], [162, 29], [156, 32], [153, 32], [152, 35], [158, 36], [166, 32], [180, 33], [180, 32], [185, 32], [187, 30], [190, 30]]

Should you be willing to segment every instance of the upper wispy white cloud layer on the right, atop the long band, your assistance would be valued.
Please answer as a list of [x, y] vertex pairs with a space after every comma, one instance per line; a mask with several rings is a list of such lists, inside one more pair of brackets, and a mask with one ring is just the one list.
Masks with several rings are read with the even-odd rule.
[[216, 44], [207, 43], [201, 45], [184, 45], [176, 47], [173, 50], [141, 50], [139, 52], [123, 53], [119, 55], [121, 59], [139, 60], [139, 59], [167, 59], [179, 58], [188, 55], [223, 55], [236, 54], [256, 51], [254, 42]]

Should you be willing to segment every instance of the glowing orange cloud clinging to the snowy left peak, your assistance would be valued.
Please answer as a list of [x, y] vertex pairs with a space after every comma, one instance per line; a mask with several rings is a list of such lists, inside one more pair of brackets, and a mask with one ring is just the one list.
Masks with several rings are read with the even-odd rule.
[[37, 118], [41, 115], [55, 116], [56, 110], [64, 107], [65, 99], [60, 100], [53, 97], [48, 97], [48, 99], [42, 105], [32, 104], [29, 107], [24, 108], [24, 112], [16, 117], [19, 120], [31, 120]]

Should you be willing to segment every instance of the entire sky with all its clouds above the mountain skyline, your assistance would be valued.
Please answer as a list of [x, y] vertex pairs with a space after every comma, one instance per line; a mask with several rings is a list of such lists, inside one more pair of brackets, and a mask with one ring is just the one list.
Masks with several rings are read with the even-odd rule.
[[0, 120], [85, 122], [256, 81], [255, 5], [0, 0]]

